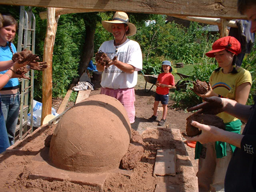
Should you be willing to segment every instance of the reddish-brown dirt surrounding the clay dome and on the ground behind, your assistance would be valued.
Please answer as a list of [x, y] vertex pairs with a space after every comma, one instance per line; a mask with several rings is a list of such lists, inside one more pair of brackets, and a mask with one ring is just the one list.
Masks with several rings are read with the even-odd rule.
[[[145, 152], [130, 175], [109, 173], [102, 191], [197, 191], [195, 176], [197, 163], [193, 160], [194, 149], [186, 146], [184, 138], [182, 136], [179, 138], [179, 135], [173, 134], [172, 131], [172, 129], [179, 129], [180, 132], [184, 132], [186, 118], [191, 113], [171, 109], [173, 101], [170, 100], [166, 125], [157, 128], [157, 122], [148, 122], [147, 118], [153, 114], [156, 87], [154, 86], [150, 92], [146, 93], [145, 81], [141, 78], [143, 77], [139, 77], [136, 86], [136, 121], [131, 127], [141, 135]], [[96, 86], [90, 95], [99, 94], [99, 92], [100, 88]], [[61, 101], [61, 99], [53, 99], [52, 107], [57, 110]], [[73, 105], [73, 102], [68, 102], [67, 108]], [[161, 113], [159, 108], [159, 117]], [[0, 155], [0, 191], [100, 191], [98, 187], [77, 184], [68, 179], [58, 181], [29, 177], [35, 170], [35, 156], [45, 148], [45, 139], [54, 132], [55, 126], [40, 127], [31, 136], [18, 141]], [[156, 176], [153, 170], [157, 149], [168, 148], [176, 150], [179, 160], [177, 160], [176, 174], [175, 176]]]

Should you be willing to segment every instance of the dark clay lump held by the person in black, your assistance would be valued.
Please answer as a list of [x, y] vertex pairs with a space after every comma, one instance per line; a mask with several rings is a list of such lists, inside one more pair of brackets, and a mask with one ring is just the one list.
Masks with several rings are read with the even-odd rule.
[[186, 120], [186, 132], [188, 136], [196, 136], [202, 132], [197, 127], [193, 127], [191, 125], [192, 120], [199, 122], [200, 124], [213, 125], [215, 127], [219, 127], [220, 129], [225, 130], [225, 124], [222, 118], [216, 115], [194, 113], [193, 115], [190, 115]]

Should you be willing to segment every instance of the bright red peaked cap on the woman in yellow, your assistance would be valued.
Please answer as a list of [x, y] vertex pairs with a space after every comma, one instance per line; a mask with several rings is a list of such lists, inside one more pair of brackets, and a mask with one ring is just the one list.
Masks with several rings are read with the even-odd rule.
[[237, 55], [241, 52], [241, 44], [236, 38], [234, 38], [234, 36], [224, 36], [223, 38], [216, 40], [212, 45], [212, 51], [205, 53], [205, 55], [209, 58], [214, 58], [214, 52], [220, 52], [223, 50], [233, 52]]

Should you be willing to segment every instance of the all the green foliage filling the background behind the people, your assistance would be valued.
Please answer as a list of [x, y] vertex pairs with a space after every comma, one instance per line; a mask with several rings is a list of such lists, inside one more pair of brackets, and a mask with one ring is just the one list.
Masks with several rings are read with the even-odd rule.
[[[19, 20], [19, 6], [0, 7], [1, 13], [10, 13]], [[39, 17], [40, 12], [46, 8], [34, 7], [33, 13], [36, 17], [36, 47], [35, 53], [43, 58], [44, 40], [47, 28], [47, 20]], [[83, 51], [86, 26], [96, 23], [94, 37], [94, 52], [97, 52], [100, 45], [113, 39], [111, 33], [106, 31], [101, 24], [101, 20], [111, 20], [115, 12], [101, 13], [76, 13], [61, 15], [58, 21], [58, 30], [54, 44], [54, 54], [52, 58], [52, 97], [63, 97], [68, 90], [68, 86], [78, 76], [78, 67]], [[145, 74], [159, 74], [161, 72], [161, 62], [170, 60], [173, 66], [177, 62], [188, 64], [199, 64], [190, 74], [188, 82], [200, 79], [209, 81], [212, 70], [216, 68], [214, 59], [205, 56], [205, 52], [211, 49], [212, 42], [216, 40], [216, 35], [207, 36], [207, 31], [202, 29], [196, 22], [191, 22], [189, 28], [184, 28], [175, 22], [166, 23], [166, 15], [148, 15], [138, 13], [128, 13], [130, 22], [136, 25], [137, 33], [131, 36], [136, 40], [143, 52], [143, 72]], [[94, 24], [93, 23], [93, 24]], [[17, 45], [17, 35], [14, 40]], [[242, 67], [249, 70], [252, 74], [253, 84], [248, 99], [248, 104], [252, 104], [255, 88], [255, 66], [256, 48], [255, 45], [251, 54], [246, 54]], [[173, 72], [175, 72], [173, 67]], [[193, 106], [202, 102], [189, 88], [193, 84], [188, 83], [188, 89], [184, 92], [175, 91], [172, 99], [175, 99], [176, 107], [185, 105]], [[42, 72], [35, 71], [35, 99], [42, 97]], [[76, 97], [76, 94], [72, 96]]]

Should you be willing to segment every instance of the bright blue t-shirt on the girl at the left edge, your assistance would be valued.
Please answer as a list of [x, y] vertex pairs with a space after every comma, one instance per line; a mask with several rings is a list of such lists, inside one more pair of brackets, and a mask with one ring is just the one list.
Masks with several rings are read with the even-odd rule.
[[[12, 43], [11, 43], [11, 46], [12, 46], [13, 52], [14, 53], [17, 52], [16, 47]], [[9, 61], [9, 60], [12, 60], [12, 51], [11, 51], [9, 45], [7, 45], [5, 47], [0, 47], [0, 61]], [[4, 74], [6, 72], [7, 72], [7, 70], [3, 70], [0, 72], [0, 74]], [[17, 86], [17, 85], [19, 85], [19, 79], [12, 78], [12, 79], [10, 79], [10, 81], [8, 81], [8, 83], [6, 83], [4, 88]]]

